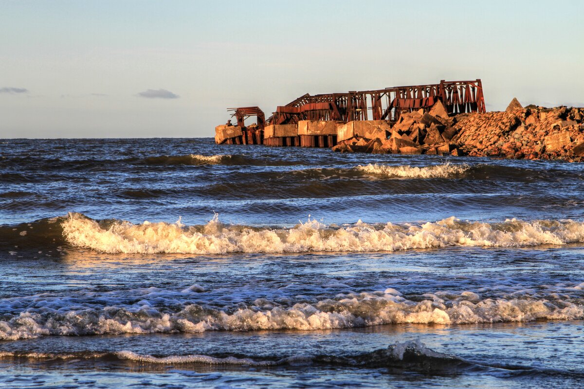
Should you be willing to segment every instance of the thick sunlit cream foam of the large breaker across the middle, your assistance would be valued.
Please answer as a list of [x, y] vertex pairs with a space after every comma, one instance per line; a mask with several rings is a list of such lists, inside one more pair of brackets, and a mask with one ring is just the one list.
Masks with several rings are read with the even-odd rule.
[[308, 220], [291, 228], [225, 225], [215, 217], [207, 225], [182, 223], [134, 225], [95, 220], [70, 213], [62, 223], [75, 247], [103, 253], [303, 253], [309, 251], [396, 251], [447, 246], [523, 247], [584, 242], [584, 223], [573, 220], [483, 223], [454, 217], [427, 223], [327, 226]]

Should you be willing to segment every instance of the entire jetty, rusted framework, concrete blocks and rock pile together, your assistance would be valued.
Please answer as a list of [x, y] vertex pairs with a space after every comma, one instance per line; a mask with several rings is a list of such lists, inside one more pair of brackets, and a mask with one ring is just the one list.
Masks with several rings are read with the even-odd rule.
[[504, 112], [487, 112], [481, 79], [307, 93], [268, 118], [256, 106], [228, 111], [235, 123], [215, 127], [217, 144], [584, 160], [584, 108], [513, 99]]

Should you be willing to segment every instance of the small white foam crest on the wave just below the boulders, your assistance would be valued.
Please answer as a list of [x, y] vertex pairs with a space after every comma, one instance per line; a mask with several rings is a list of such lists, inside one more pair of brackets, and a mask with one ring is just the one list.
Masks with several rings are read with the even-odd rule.
[[384, 164], [367, 164], [357, 166], [358, 170], [369, 174], [381, 174], [383, 176], [404, 177], [404, 178], [449, 178], [454, 175], [463, 174], [470, 169], [468, 164], [444, 163], [433, 166], [392, 166]]

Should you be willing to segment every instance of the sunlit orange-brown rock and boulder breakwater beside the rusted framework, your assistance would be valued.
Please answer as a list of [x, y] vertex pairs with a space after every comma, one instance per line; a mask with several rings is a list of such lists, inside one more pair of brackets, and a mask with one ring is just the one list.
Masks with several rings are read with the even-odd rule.
[[584, 108], [523, 108], [513, 99], [505, 112], [447, 115], [437, 103], [428, 113], [402, 114], [393, 126], [373, 126], [350, 137], [339, 127], [333, 150], [584, 161]]

